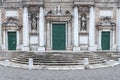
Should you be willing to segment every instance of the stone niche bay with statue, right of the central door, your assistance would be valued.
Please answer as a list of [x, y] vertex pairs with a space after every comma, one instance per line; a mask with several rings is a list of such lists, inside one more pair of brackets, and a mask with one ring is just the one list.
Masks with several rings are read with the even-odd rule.
[[88, 50], [89, 6], [79, 6], [79, 44], [81, 50]]

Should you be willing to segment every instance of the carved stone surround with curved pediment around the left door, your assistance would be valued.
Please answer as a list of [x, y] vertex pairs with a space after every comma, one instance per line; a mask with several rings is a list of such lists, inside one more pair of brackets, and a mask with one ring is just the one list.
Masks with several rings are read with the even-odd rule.
[[21, 32], [22, 26], [19, 24], [18, 19], [9, 17], [3, 24], [2, 24], [2, 49], [8, 50], [8, 32], [16, 32], [16, 50], [20, 49], [21, 45]]

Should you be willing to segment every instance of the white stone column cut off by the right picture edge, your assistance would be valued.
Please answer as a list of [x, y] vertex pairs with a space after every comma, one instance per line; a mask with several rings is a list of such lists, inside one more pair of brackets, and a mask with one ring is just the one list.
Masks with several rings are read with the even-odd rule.
[[117, 50], [120, 51], [120, 8], [117, 9]]

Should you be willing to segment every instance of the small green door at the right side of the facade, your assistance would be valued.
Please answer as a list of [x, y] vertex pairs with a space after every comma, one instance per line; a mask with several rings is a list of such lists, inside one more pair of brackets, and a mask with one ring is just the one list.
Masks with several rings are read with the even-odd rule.
[[110, 50], [110, 32], [102, 32], [102, 50]]

